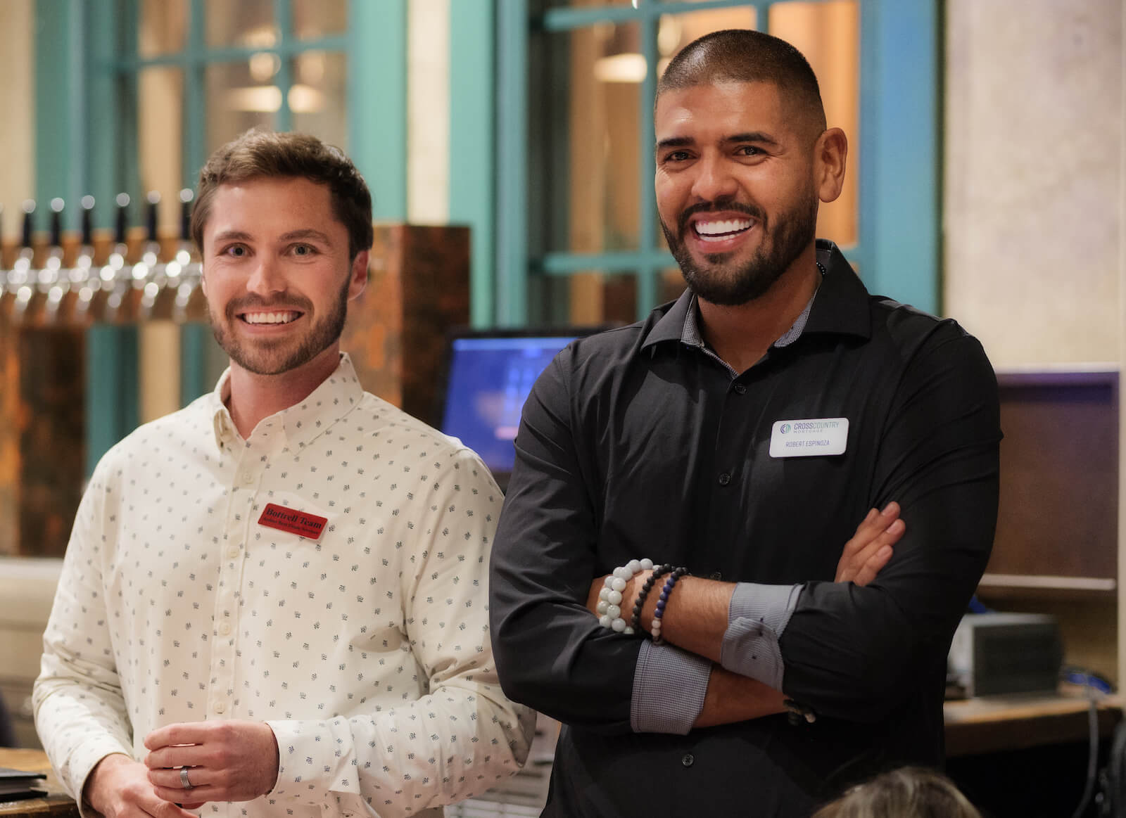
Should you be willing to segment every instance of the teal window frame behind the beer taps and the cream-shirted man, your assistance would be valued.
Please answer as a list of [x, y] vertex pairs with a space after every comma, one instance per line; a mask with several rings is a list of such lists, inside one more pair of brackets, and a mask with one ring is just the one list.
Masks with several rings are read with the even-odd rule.
[[[349, 0], [347, 33], [318, 39], [292, 36], [292, 0], [274, 0], [280, 39], [271, 48], [207, 48], [204, 0], [189, 0], [185, 51], [136, 56], [138, 0], [36, 0], [36, 197], [78, 201], [92, 194], [113, 201], [137, 191], [136, 77], [144, 68], [185, 69], [182, 178], [195, 187], [206, 159], [203, 71], [208, 64], [271, 52], [282, 57], [283, 107], [277, 126], [292, 125], [284, 91], [292, 83], [287, 57], [303, 51], [342, 52], [347, 60], [348, 151], [373, 191], [376, 221], [406, 216], [406, 3]], [[284, 21], [284, 23], [283, 23]], [[78, 227], [69, 208], [69, 230]], [[98, 207], [97, 226], [109, 227], [110, 208]], [[207, 329], [187, 326], [182, 338], [181, 399], [204, 383]], [[137, 424], [135, 327], [95, 326], [87, 342], [87, 473]]]

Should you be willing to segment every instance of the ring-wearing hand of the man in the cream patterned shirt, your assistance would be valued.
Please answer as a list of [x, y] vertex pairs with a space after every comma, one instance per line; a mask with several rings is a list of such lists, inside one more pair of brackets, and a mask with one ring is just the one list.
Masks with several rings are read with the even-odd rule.
[[[149, 781], [166, 801], [250, 801], [274, 789], [278, 744], [261, 721], [188, 721], [145, 736]], [[191, 788], [184, 788], [180, 767]]]

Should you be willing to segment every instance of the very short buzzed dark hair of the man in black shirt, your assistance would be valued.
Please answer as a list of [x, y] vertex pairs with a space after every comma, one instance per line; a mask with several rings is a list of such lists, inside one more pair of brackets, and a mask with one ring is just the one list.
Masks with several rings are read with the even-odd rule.
[[723, 81], [770, 82], [825, 129], [821, 88], [808, 61], [785, 39], [745, 28], [705, 34], [677, 54], [656, 83], [665, 91]]

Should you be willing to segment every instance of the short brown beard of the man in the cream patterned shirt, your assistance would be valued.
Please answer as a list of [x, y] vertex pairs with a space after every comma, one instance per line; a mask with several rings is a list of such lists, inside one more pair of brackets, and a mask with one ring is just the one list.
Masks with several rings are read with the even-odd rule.
[[[345, 277], [345, 285], [340, 288], [340, 296], [337, 298], [332, 312], [323, 321], [313, 324], [305, 338], [301, 339], [297, 347], [284, 358], [271, 360], [277, 353], [280, 353], [283, 345], [289, 341], [288, 339], [274, 342], [259, 341], [253, 348], [249, 345], [244, 347], [234, 336], [234, 333], [226, 332], [225, 325], [215, 320], [215, 315], [208, 307], [207, 318], [211, 322], [212, 334], [215, 336], [215, 342], [223, 348], [223, 351], [230, 356], [231, 360], [248, 372], [253, 372], [254, 375], [282, 375], [283, 372], [288, 372], [309, 363], [340, 340], [340, 335], [345, 330], [345, 321], [348, 318], [349, 284], [349, 277]], [[226, 305], [226, 321], [232, 324], [235, 321], [242, 321], [238, 314], [247, 307], [268, 308], [272, 306], [275, 305], [259, 296], [240, 298]], [[313, 304], [307, 298], [292, 298], [285, 302], [285, 306], [277, 305], [276, 308], [280, 311], [291, 306], [296, 306], [304, 315], [309, 315]]]

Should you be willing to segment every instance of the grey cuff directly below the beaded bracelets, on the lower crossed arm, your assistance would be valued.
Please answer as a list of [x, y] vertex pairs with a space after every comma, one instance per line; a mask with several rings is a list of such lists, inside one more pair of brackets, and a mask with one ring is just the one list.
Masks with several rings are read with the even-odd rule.
[[687, 735], [704, 709], [712, 663], [671, 645], [642, 642], [634, 671], [629, 726], [634, 732]]

